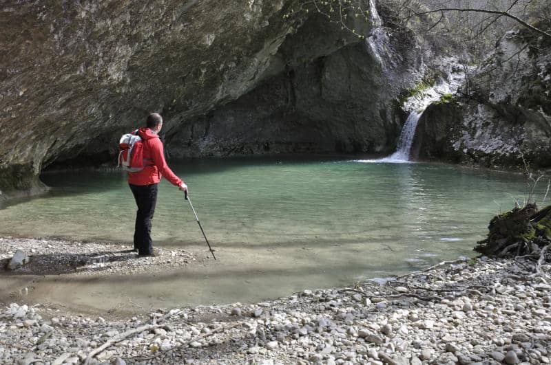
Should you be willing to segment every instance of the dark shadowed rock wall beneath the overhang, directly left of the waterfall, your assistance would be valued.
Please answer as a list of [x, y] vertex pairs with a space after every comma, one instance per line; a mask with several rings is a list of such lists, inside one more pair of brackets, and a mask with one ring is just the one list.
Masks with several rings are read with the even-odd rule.
[[180, 157], [388, 153], [402, 126], [399, 88], [391, 90], [365, 45], [350, 45], [185, 124], [169, 137], [170, 151]]

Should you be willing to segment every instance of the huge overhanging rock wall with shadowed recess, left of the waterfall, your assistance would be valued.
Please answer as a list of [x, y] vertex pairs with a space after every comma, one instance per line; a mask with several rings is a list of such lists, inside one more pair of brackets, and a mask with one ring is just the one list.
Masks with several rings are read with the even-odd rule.
[[383, 76], [364, 40], [298, 5], [8, 1], [0, 190], [40, 189], [48, 166], [112, 162], [118, 136], [151, 111], [177, 156], [393, 148], [395, 80], [416, 76], [413, 63], [396, 57]]

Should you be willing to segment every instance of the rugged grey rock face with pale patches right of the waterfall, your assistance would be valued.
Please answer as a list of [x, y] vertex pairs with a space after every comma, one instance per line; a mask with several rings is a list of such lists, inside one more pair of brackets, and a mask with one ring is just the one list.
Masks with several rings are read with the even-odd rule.
[[459, 96], [431, 104], [417, 127], [420, 159], [486, 167], [551, 167], [551, 43], [509, 32]]

